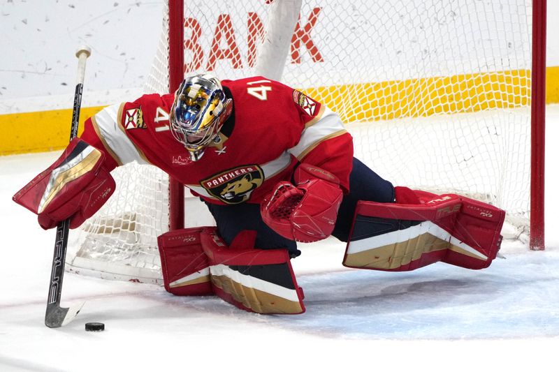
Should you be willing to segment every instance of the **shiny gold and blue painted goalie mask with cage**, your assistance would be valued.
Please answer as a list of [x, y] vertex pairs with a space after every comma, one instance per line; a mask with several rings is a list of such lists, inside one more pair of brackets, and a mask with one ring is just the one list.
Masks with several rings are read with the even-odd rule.
[[170, 108], [170, 128], [173, 137], [189, 151], [192, 161], [203, 156], [232, 108], [231, 98], [225, 96], [216, 77], [194, 75], [182, 81]]

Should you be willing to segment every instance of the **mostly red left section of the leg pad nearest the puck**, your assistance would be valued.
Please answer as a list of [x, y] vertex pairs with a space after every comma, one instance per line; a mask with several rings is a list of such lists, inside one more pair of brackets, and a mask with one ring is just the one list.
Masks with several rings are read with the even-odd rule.
[[213, 295], [210, 267], [201, 244], [203, 228], [173, 230], [157, 238], [167, 292], [177, 296]]

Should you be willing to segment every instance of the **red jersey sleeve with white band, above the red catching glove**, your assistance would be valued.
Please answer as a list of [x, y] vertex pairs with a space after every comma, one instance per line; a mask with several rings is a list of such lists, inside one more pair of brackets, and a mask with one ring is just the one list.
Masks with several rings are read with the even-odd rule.
[[344, 193], [348, 193], [354, 154], [351, 135], [340, 117], [326, 105], [297, 90], [293, 90], [292, 95], [293, 108], [298, 112], [303, 131], [289, 152], [301, 163], [317, 165], [335, 174]]

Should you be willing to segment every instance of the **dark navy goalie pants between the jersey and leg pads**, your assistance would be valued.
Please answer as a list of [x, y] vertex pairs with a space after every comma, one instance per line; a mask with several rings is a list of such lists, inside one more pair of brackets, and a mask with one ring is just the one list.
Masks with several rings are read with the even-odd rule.
[[[354, 158], [353, 168], [349, 174], [349, 194], [344, 195], [332, 232], [332, 235], [341, 241], [347, 241], [349, 237], [358, 200], [393, 202], [394, 187], [367, 165]], [[300, 255], [296, 241], [282, 237], [262, 221], [259, 204], [217, 205], [206, 203], [206, 205], [215, 218], [219, 235], [227, 244], [231, 244], [231, 241], [242, 230], [256, 230], [256, 248], [287, 248], [291, 258]]]

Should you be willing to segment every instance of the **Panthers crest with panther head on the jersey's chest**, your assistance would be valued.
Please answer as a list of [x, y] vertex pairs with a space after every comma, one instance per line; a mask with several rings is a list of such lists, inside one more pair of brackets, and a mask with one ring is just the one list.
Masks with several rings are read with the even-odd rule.
[[249, 200], [263, 180], [264, 172], [258, 165], [243, 165], [205, 179], [201, 185], [222, 202], [239, 204]]

